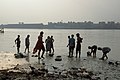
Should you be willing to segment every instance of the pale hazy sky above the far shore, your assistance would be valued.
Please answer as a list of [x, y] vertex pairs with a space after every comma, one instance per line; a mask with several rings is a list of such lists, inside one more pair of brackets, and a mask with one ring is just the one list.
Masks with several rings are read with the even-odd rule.
[[120, 22], [120, 0], [0, 0], [0, 24]]

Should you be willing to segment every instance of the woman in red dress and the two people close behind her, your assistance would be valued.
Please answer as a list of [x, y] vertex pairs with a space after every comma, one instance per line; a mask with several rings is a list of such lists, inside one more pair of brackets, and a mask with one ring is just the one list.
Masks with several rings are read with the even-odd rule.
[[[38, 59], [41, 59], [43, 58], [44, 59], [44, 53], [45, 53], [45, 47], [44, 47], [44, 41], [43, 41], [43, 34], [44, 32], [41, 31], [40, 32], [40, 35], [38, 36], [38, 41], [33, 49], [33, 54], [37, 52], [38, 50]], [[53, 36], [48, 36], [47, 39], [45, 40], [45, 43], [46, 43], [46, 53], [49, 51], [49, 53], [51, 53], [51, 49], [52, 49], [52, 53], [54, 53], [54, 47], [53, 47], [53, 42], [54, 42], [54, 39], [53, 39]], [[41, 57], [40, 57], [40, 52], [42, 50], [42, 54], [41, 54]]]

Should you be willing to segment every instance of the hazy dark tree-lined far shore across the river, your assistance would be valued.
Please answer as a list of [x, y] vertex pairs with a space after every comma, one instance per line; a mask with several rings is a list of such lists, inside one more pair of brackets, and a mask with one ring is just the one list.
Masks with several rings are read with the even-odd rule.
[[17, 29], [120, 29], [120, 23], [115, 22], [99, 22], [95, 24], [93, 22], [68, 22], [68, 23], [52, 23], [47, 25], [43, 23], [39, 24], [1, 24], [0, 28], [17, 28]]

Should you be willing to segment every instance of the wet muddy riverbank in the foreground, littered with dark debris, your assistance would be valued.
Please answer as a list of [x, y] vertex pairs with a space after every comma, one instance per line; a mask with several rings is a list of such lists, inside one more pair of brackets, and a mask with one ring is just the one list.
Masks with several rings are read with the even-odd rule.
[[[55, 61], [57, 55], [38, 60], [30, 53], [26, 58], [14, 58], [14, 53], [0, 53], [0, 79], [8, 80], [119, 80], [120, 65], [114, 60], [82, 57]], [[45, 63], [45, 65], [43, 64]], [[31, 68], [32, 67], [32, 68]], [[44, 69], [43, 69], [44, 68]]]

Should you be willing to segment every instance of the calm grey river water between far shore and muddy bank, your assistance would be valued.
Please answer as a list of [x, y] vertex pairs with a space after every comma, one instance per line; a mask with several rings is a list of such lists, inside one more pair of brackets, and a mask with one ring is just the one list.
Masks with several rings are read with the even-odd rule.
[[[21, 36], [20, 52], [24, 52], [25, 38], [30, 35], [30, 51], [32, 52], [40, 31], [44, 31], [43, 40], [47, 36], [54, 37], [54, 48], [56, 55], [68, 55], [67, 36], [80, 33], [83, 38], [81, 56], [85, 57], [88, 46], [96, 44], [98, 47], [110, 47], [109, 59], [120, 60], [120, 30], [84, 30], [84, 29], [5, 29], [5, 33], [0, 33], [0, 52], [16, 53], [15, 39]], [[75, 53], [75, 51], [74, 51]], [[97, 51], [97, 57], [101, 57], [102, 52]]]

